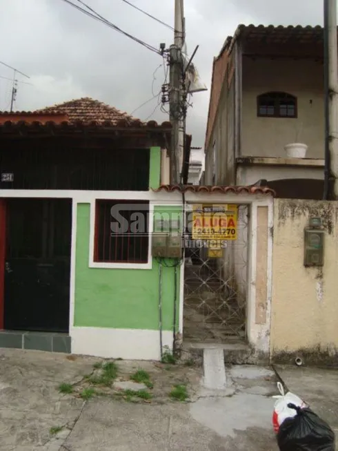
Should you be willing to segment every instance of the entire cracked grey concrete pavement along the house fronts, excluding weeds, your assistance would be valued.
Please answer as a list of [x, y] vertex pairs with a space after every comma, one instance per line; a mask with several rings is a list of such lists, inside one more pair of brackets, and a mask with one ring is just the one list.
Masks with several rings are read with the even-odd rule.
[[[201, 386], [201, 368], [119, 361], [119, 374], [151, 375], [150, 400], [101, 393], [88, 401], [79, 391], [61, 394], [60, 383], [83, 390], [97, 358], [0, 349], [0, 451], [278, 451], [272, 431], [277, 394], [266, 368], [226, 369], [226, 389]], [[281, 367], [292, 392], [304, 397], [337, 432], [338, 372]], [[171, 401], [172, 386], [186, 381], [189, 402]], [[104, 396], [103, 396], [104, 395]], [[124, 401], [123, 401], [124, 399]], [[60, 429], [51, 434], [52, 429]]]

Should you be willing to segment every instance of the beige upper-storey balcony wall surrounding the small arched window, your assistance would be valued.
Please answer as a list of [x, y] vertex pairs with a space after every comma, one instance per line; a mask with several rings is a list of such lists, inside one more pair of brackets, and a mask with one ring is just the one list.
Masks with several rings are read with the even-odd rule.
[[[295, 95], [297, 118], [257, 117], [257, 95]], [[318, 61], [243, 57], [241, 155], [283, 157], [292, 142], [308, 145], [308, 158], [324, 158], [323, 65]]]

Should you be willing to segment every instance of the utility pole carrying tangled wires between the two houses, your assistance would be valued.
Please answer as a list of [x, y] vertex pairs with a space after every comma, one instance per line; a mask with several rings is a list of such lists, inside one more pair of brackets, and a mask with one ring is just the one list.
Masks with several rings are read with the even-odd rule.
[[175, 0], [175, 35], [170, 46], [169, 104], [172, 124], [170, 149], [170, 184], [180, 184], [183, 163], [183, 144], [186, 121], [183, 117], [183, 59], [182, 48], [185, 39], [183, 0]]

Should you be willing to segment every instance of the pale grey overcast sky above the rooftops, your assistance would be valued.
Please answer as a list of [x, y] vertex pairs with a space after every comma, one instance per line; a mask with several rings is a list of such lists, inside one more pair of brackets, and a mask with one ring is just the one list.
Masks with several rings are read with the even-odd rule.
[[[78, 3], [78, 0], [72, 0]], [[170, 29], [122, 0], [84, 0], [112, 23], [158, 48], [172, 44]], [[173, 26], [174, 0], [130, 0]], [[322, 24], [322, 0], [185, 0], [188, 53], [199, 44], [195, 64], [210, 88], [212, 59], [239, 23]], [[81, 5], [80, 5], [81, 6]], [[18, 79], [16, 110], [34, 110], [79, 97], [93, 97], [132, 113], [159, 93], [164, 81], [159, 55], [83, 15], [63, 0], [0, 0], [0, 61], [30, 76]], [[155, 77], [153, 74], [155, 73]], [[0, 64], [0, 76], [13, 71]], [[154, 80], [155, 78], [155, 80]], [[0, 78], [0, 109], [10, 108], [12, 83]], [[192, 97], [187, 132], [203, 146], [210, 89]], [[155, 110], [155, 111], [154, 111]], [[133, 115], [162, 122], [157, 97]]]

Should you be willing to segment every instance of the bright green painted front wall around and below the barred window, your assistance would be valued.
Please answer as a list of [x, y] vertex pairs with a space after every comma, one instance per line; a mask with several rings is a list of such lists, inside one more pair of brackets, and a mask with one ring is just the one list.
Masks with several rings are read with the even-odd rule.
[[[168, 211], [178, 207], [161, 207]], [[159, 264], [152, 269], [89, 268], [90, 204], [77, 204], [74, 325], [159, 329]], [[163, 267], [163, 330], [172, 330], [174, 268]], [[179, 305], [179, 268], [177, 306]], [[178, 324], [178, 308], [177, 308]]]

